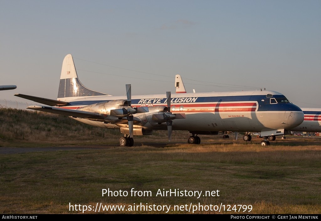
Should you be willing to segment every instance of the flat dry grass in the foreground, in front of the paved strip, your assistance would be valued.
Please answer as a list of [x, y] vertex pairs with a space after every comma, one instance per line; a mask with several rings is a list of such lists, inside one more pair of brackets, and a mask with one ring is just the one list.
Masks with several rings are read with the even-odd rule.
[[[255, 145], [244, 145], [243, 151], [234, 147], [233, 144], [110, 146], [2, 155], [0, 213], [69, 213], [69, 202], [172, 206], [223, 203], [252, 205], [250, 213], [321, 212], [321, 147], [306, 146], [303, 151], [300, 147], [285, 151], [284, 146], [273, 147], [272, 151], [269, 148], [257, 151]], [[108, 188], [150, 190], [153, 196], [102, 197], [101, 190]], [[163, 188], [220, 190], [220, 197], [156, 197], [157, 190]]]

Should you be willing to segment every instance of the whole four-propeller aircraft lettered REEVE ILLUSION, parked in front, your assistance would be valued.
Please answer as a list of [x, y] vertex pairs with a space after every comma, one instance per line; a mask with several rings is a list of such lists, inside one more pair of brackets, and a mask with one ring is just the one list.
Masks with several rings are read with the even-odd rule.
[[[115, 82], [110, 82], [114, 84]], [[264, 137], [288, 134], [304, 119], [301, 109], [274, 91], [216, 93], [171, 93], [112, 96], [86, 88], [78, 79], [73, 57], [62, 65], [57, 100], [15, 94], [49, 106], [28, 109], [70, 116], [102, 128], [118, 128], [124, 137], [120, 146], [133, 146], [133, 135], [151, 135], [153, 130], [187, 130], [188, 143], [199, 144], [200, 134], [218, 131], [258, 131]], [[269, 141], [261, 141], [262, 146]]]

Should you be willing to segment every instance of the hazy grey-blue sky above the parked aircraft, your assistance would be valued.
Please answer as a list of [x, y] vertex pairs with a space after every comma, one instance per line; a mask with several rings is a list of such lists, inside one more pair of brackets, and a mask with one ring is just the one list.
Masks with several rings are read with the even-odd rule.
[[0, 84], [17, 85], [0, 99], [56, 99], [70, 53], [80, 81], [112, 95], [175, 92], [180, 74], [188, 92], [266, 88], [321, 108], [319, 0], [1, 0], [0, 21]]

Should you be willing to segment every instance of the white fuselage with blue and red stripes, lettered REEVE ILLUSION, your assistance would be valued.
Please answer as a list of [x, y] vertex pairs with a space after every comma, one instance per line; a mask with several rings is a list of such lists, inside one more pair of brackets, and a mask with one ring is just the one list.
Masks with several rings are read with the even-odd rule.
[[[185, 119], [174, 119], [174, 130], [189, 131], [269, 131], [297, 127], [303, 121], [301, 109], [284, 102], [284, 95], [273, 91], [242, 91], [216, 93], [176, 93], [171, 97], [173, 114], [185, 114]], [[125, 96], [66, 97], [70, 105], [62, 108], [79, 109], [87, 105], [111, 100], [126, 100]], [[285, 98], [286, 99], [286, 98]], [[167, 106], [165, 94], [133, 95], [132, 107], [149, 107], [148, 113], [134, 114], [141, 119], [134, 127], [166, 129], [166, 123], [155, 123], [151, 116], [157, 106]], [[118, 128], [127, 124], [80, 119], [99, 127]]]

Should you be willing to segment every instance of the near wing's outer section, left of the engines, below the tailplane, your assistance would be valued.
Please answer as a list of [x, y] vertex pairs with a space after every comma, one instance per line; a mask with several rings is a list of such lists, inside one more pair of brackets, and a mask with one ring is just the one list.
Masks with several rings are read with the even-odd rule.
[[58, 108], [58, 107], [32, 105], [32, 106], [27, 107], [27, 109], [36, 110], [36, 111], [44, 111], [44, 112], [61, 114], [61, 115], [65, 115], [65, 116], [78, 117], [78, 118], [91, 118], [91, 119], [105, 119], [106, 118], [106, 116], [101, 113], [95, 113], [95, 112], [89, 112], [89, 111], [77, 111], [77, 110], [70, 110], [70, 109]]

